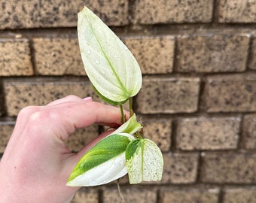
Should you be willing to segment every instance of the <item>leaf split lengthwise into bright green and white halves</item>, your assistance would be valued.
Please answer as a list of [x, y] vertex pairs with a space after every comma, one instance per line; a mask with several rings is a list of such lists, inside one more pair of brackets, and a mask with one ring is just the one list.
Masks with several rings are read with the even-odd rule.
[[119, 133], [99, 141], [75, 166], [67, 186], [98, 186], [123, 177], [127, 173], [125, 150], [133, 139]]

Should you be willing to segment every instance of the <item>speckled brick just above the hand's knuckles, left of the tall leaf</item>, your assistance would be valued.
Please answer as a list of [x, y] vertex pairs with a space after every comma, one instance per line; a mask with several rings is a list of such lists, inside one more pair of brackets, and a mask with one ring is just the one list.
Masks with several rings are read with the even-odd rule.
[[[96, 93], [86, 79], [66, 80], [65, 78], [47, 79], [27, 78], [26, 80], [4, 81], [5, 101], [9, 116], [16, 116], [28, 105], [47, 105], [47, 103], [66, 95], [80, 97], [92, 96], [97, 100]], [[98, 99], [99, 101], [99, 99]]]

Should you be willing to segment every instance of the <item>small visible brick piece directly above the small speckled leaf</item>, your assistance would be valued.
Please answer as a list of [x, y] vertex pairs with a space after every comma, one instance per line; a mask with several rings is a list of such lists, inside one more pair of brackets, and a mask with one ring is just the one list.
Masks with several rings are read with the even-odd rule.
[[142, 121], [145, 138], [154, 141], [160, 150], [168, 151], [171, 146], [171, 120], [150, 119]]

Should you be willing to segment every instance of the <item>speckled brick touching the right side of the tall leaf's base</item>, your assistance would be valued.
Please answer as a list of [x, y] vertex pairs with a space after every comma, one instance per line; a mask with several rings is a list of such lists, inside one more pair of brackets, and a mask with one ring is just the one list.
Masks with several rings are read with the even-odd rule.
[[145, 77], [137, 97], [142, 114], [197, 111], [200, 79], [197, 77]]

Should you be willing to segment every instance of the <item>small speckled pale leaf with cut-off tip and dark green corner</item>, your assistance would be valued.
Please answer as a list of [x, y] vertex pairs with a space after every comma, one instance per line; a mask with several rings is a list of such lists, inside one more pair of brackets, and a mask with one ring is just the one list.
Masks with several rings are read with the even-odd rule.
[[126, 168], [130, 184], [161, 180], [163, 155], [153, 141], [135, 139], [126, 148]]

